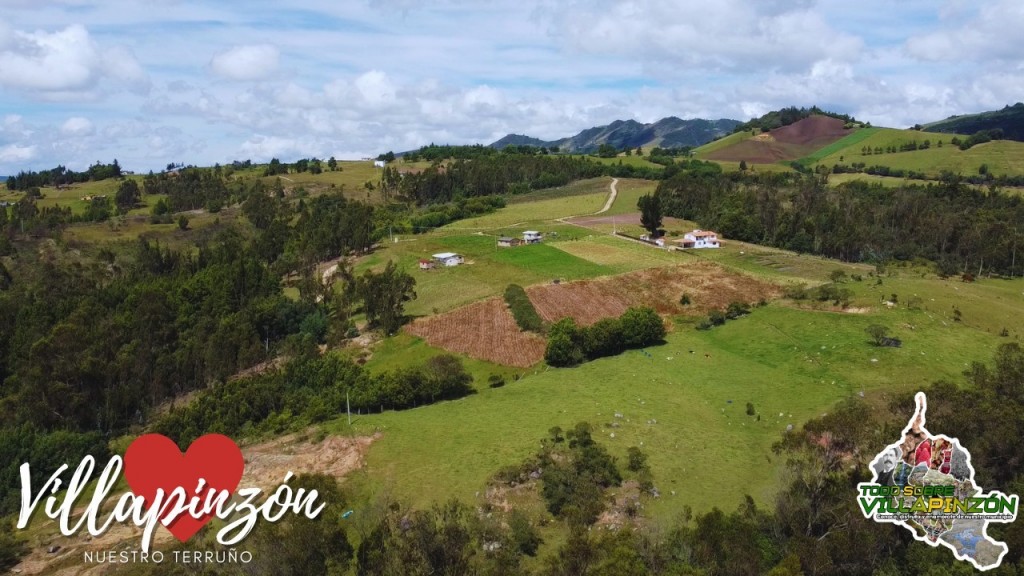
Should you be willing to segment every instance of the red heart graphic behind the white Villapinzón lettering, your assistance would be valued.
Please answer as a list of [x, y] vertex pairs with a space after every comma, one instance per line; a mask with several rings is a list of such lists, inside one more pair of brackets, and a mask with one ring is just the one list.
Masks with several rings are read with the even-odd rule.
[[[153, 506], [157, 490], [164, 490], [164, 501], [179, 486], [185, 491], [186, 502], [196, 495], [200, 479], [206, 481], [200, 492], [201, 505], [210, 489], [233, 493], [242, 480], [246, 463], [234, 441], [219, 434], [208, 434], [193, 442], [181, 454], [178, 446], [164, 435], [147, 434], [135, 439], [125, 452], [125, 481], [132, 493], [143, 498], [146, 509]], [[164, 518], [170, 516], [164, 515]], [[163, 522], [164, 518], [161, 518]], [[212, 513], [200, 519], [183, 512], [167, 526], [174, 537], [184, 542], [213, 519]]]

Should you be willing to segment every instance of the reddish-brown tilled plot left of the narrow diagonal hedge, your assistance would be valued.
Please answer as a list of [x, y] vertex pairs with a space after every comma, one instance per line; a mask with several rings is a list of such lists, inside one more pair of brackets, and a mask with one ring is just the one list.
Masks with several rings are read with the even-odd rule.
[[519, 330], [501, 298], [422, 318], [406, 330], [432, 346], [495, 364], [527, 368], [544, 359], [544, 337]]

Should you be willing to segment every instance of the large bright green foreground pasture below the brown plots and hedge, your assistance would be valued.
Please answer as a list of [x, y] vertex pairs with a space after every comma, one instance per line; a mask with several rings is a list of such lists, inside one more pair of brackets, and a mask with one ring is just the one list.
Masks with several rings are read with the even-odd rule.
[[[900, 334], [903, 348], [877, 348], [863, 330], [880, 317], [919, 328]], [[787, 424], [860, 390], [880, 398], [955, 380], [969, 362], [988, 358], [998, 340], [930, 321], [927, 312], [854, 315], [770, 305], [708, 332], [677, 327], [665, 345], [649, 348], [651, 358], [631, 352], [573, 369], [541, 369], [459, 401], [361, 416], [352, 431], [384, 436], [356, 486], [364, 497], [387, 491], [419, 505], [446, 496], [473, 501], [498, 468], [536, 451], [549, 427], [587, 420], [621, 460], [629, 446], [649, 454], [664, 495], [647, 504], [654, 518], [671, 519], [685, 505], [703, 510], [711, 501], [729, 509], [744, 493], [768, 504], [781, 467], [770, 446]], [[760, 421], [744, 415], [746, 402]], [[612, 439], [604, 425], [614, 412], [625, 418]], [[346, 427], [342, 421], [329, 426]]]

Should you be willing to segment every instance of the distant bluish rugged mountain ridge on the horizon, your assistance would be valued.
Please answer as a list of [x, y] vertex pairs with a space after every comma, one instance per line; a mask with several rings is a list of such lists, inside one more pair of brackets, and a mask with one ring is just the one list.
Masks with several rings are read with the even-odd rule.
[[737, 120], [682, 120], [674, 116], [652, 124], [635, 120], [615, 120], [606, 126], [595, 126], [574, 136], [557, 140], [542, 140], [522, 134], [508, 134], [490, 143], [492, 148], [508, 146], [557, 147], [561, 152], [589, 153], [603, 143], [618, 150], [637, 147], [681, 148], [696, 147], [732, 132], [739, 125]]

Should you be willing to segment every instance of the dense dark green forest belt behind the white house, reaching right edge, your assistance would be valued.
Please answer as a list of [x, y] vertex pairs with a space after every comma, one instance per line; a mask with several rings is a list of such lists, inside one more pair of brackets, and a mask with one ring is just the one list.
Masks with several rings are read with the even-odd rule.
[[1020, 275], [1024, 202], [956, 176], [896, 189], [864, 181], [829, 188], [801, 174], [723, 174], [693, 165], [660, 182], [666, 215], [733, 238], [848, 261], [924, 258], [946, 275]]

